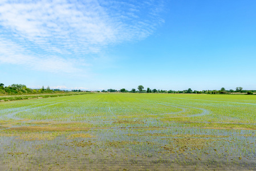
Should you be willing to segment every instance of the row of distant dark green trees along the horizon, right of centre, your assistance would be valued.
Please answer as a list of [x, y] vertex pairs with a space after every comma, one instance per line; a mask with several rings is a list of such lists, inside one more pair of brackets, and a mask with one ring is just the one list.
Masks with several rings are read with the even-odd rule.
[[220, 90], [214, 89], [214, 90], [202, 90], [202, 91], [197, 91], [197, 90], [192, 90], [191, 88], [181, 90], [181, 91], [174, 91], [174, 90], [160, 90], [160, 89], [151, 89], [147, 88], [144, 89], [142, 85], [138, 86], [137, 89], [132, 88], [131, 91], [128, 91], [125, 88], [120, 89], [119, 91], [116, 89], [108, 89], [107, 91], [103, 90], [101, 92], [132, 92], [132, 93], [194, 93], [194, 94], [228, 94], [228, 93], [247, 93], [248, 95], [253, 95], [253, 92], [256, 92], [256, 90], [250, 90], [246, 91], [243, 90], [242, 87], [236, 87], [235, 90], [230, 89], [226, 90], [224, 87], [222, 87]]

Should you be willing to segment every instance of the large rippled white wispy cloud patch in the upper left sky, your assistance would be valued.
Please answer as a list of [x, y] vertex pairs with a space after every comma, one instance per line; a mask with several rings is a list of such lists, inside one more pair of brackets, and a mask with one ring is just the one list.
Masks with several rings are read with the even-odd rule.
[[[0, 2], [0, 62], [79, 72], [89, 54], [147, 38], [164, 22], [160, 1]], [[74, 60], [75, 59], [75, 60]], [[87, 65], [87, 64], [86, 64]]]

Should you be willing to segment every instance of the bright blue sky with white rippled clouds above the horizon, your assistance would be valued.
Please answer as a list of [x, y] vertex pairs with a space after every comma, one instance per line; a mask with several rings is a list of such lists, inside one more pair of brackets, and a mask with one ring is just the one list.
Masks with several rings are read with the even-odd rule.
[[256, 1], [0, 2], [0, 82], [256, 89]]

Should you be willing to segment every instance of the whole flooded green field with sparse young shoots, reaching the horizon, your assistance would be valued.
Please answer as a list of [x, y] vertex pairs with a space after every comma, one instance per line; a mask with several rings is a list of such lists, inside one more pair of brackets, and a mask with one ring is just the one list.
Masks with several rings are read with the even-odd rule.
[[92, 93], [0, 103], [0, 170], [255, 170], [256, 96]]

